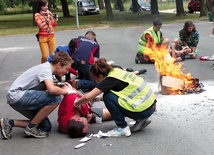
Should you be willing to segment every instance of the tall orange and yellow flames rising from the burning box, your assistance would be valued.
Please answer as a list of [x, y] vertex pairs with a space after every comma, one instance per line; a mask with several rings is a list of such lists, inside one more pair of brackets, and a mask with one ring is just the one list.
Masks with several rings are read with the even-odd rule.
[[[185, 69], [182, 68], [182, 63], [175, 63], [175, 59], [169, 54], [169, 49], [165, 45], [160, 46], [147, 46], [144, 50], [144, 54], [149, 56], [150, 60], [154, 60], [154, 65], [160, 76], [171, 76], [184, 80], [185, 86], [183, 90], [187, 90], [190, 86], [193, 86], [193, 77], [191, 73], [185, 74]], [[179, 91], [175, 88], [169, 88], [172, 94], [182, 94], [182, 90]]]

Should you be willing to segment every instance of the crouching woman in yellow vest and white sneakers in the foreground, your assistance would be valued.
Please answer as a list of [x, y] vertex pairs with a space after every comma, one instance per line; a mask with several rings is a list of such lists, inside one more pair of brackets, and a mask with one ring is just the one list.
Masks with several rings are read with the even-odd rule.
[[[142, 130], [151, 123], [148, 118], [156, 109], [156, 98], [142, 77], [119, 68], [112, 68], [103, 58], [92, 65], [90, 73], [98, 84], [92, 91], [75, 101], [74, 106], [79, 107], [103, 93], [101, 100], [104, 101], [117, 125], [115, 129], [107, 132], [109, 137], [130, 136], [131, 131]], [[136, 121], [131, 129], [125, 117]]]

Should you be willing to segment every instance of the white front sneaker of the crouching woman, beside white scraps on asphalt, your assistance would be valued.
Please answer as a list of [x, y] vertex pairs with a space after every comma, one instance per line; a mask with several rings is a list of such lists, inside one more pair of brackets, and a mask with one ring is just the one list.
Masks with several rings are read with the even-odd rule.
[[131, 136], [131, 131], [129, 126], [126, 126], [125, 128], [115, 128], [113, 130], [110, 130], [107, 132], [108, 137], [119, 137], [119, 136]]

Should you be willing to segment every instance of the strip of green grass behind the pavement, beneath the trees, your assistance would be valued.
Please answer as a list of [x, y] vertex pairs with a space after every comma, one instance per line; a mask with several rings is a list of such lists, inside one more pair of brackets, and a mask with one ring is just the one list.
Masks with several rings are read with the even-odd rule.
[[[167, 9], [175, 8], [174, 5], [166, 5]], [[159, 10], [166, 8], [164, 5], [159, 5]], [[184, 6], [185, 7], [185, 6]], [[128, 5], [126, 5], [128, 10]], [[160, 9], [161, 8], [161, 9]], [[63, 18], [62, 12], [57, 12], [59, 15], [58, 25], [55, 27], [55, 32], [63, 30], [76, 29], [75, 10], [70, 8], [70, 14], [72, 17]], [[138, 12], [132, 13], [129, 11], [119, 12], [113, 10], [114, 20], [108, 21], [106, 19], [106, 11], [101, 10], [99, 15], [79, 16], [79, 28], [91, 29], [96, 27], [130, 27], [151, 25], [155, 18], [160, 18], [164, 24], [167, 23], [179, 23], [186, 20], [198, 21], [208, 20], [208, 17], [200, 18], [199, 14], [186, 14], [186, 16], [176, 17], [171, 13], [160, 13], [159, 15], [151, 15], [150, 12]], [[35, 34], [38, 31], [37, 26], [33, 26], [33, 15], [28, 14], [15, 14], [15, 15], [0, 15], [0, 36], [5, 35], [18, 35], [18, 34]]]

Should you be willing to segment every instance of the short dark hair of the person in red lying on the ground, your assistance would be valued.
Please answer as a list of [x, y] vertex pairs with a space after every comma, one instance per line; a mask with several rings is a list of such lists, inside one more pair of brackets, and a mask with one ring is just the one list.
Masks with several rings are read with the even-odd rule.
[[83, 132], [84, 128], [83, 122], [77, 122], [76, 120], [70, 120], [68, 124], [68, 134], [71, 138], [79, 138], [86, 136], [87, 133]]

